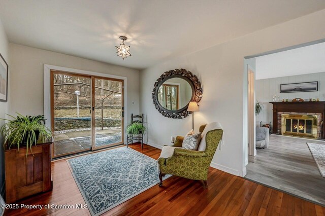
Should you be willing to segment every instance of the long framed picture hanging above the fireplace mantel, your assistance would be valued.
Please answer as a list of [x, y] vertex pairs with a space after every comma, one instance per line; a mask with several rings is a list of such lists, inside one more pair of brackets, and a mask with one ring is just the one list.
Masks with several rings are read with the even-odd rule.
[[318, 82], [281, 84], [280, 93], [318, 91]]

